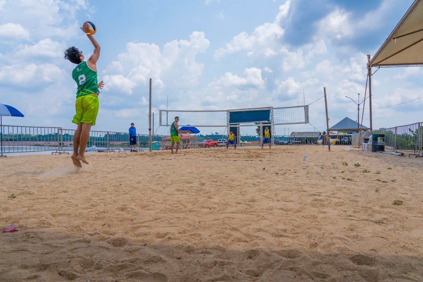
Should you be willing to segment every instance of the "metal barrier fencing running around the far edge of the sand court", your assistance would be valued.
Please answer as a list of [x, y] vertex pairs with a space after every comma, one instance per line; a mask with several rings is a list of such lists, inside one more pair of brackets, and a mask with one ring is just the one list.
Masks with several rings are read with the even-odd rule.
[[[358, 146], [364, 142], [364, 138], [372, 134], [385, 134], [385, 148], [388, 150], [409, 151], [423, 153], [423, 123], [412, 123], [404, 126], [396, 126], [388, 129], [365, 131], [361, 134], [351, 136], [351, 145]], [[75, 129], [62, 129], [60, 127], [42, 126], [1, 126], [2, 142], [1, 154], [3, 153], [25, 153], [40, 151], [65, 152], [73, 150]], [[218, 141], [226, 140], [225, 136], [220, 137], [199, 137], [190, 136], [181, 139], [180, 148], [204, 147], [203, 141], [207, 138]], [[272, 145], [317, 145], [319, 137], [305, 137], [292, 135], [272, 136]], [[261, 145], [260, 137], [254, 135], [236, 136], [237, 145], [257, 146]], [[216, 142], [214, 142], [216, 143]], [[166, 135], [153, 135], [153, 150], [170, 149], [170, 137]], [[220, 142], [219, 146], [226, 146]], [[339, 143], [341, 145], [349, 145]], [[336, 144], [331, 144], [336, 145]], [[90, 131], [86, 151], [110, 152], [118, 149], [129, 149], [129, 133], [115, 131]], [[149, 136], [147, 134], [137, 134], [138, 151], [148, 150]]]

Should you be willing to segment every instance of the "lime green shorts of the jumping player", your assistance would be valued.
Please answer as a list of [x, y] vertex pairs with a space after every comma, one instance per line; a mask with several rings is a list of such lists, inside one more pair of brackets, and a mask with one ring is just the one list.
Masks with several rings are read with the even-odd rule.
[[94, 94], [87, 94], [80, 96], [75, 101], [76, 114], [74, 115], [73, 123], [92, 123], [96, 125], [96, 118], [99, 112], [99, 96]]

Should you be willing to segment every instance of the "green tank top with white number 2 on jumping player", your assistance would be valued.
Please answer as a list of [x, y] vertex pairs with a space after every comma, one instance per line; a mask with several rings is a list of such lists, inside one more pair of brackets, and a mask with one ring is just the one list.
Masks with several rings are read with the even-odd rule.
[[72, 78], [77, 83], [77, 98], [92, 94], [99, 93], [97, 72], [93, 71], [87, 62], [83, 61], [72, 71]]

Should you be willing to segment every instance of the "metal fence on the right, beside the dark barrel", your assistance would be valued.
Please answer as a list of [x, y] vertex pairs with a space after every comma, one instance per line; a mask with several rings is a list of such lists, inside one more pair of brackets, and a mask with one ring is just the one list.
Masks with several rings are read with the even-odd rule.
[[[365, 131], [352, 138], [352, 145], [358, 147], [373, 134], [385, 134], [385, 149], [393, 151], [408, 151], [423, 153], [422, 138], [423, 123], [412, 123], [403, 126], [396, 126], [387, 129]], [[360, 140], [359, 140], [360, 138]]]

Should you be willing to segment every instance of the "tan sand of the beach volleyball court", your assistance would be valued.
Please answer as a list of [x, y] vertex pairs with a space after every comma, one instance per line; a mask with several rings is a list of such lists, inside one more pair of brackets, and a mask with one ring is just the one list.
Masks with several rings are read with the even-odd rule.
[[2, 158], [0, 281], [422, 281], [423, 159], [344, 148]]

